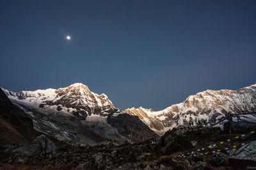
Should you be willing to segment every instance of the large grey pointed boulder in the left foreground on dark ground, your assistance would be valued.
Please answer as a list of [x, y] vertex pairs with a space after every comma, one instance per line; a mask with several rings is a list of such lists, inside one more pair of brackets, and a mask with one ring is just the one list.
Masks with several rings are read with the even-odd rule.
[[44, 154], [56, 152], [56, 145], [52, 143], [49, 138], [45, 137], [45, 135], [40, 135], [35, 139], [35, 141], [25, 144], [24, 146], [20, 146], [12, 152], [15, 155], [22, 157], [33, 157], [42, 153]]

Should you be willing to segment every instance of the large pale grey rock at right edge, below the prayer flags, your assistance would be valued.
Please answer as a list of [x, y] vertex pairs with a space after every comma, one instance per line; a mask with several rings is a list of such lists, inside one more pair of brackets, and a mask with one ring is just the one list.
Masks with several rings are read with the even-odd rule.
[[256, 141], [252, 141], [248, 144], [245, 144], [235, 153], [230, 155], [230, 158], [237, 158], [237, 159], [246, 159], [246, 160], [256, 160]]

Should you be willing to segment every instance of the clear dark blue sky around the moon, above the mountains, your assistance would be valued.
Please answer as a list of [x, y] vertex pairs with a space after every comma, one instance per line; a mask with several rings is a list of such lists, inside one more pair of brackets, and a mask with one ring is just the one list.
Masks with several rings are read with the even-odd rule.
[[82, 82], [120, 109], [155, 111], [205, 89], [250, 86], [255, 9], [256, 1], [0, 0], [0, 86]]

